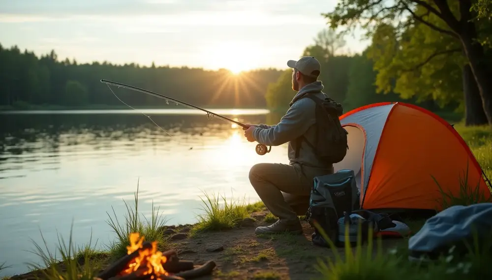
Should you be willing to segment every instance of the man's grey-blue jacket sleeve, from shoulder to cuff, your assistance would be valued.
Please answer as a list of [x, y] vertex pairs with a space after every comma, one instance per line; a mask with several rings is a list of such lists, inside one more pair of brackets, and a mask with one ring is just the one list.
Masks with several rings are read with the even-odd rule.
[[312, 101], [303, 99], [295, 102], [276, 126], [255, 127], [252, 133], [254, 140], [267, 146], [279, 146], [304, 134], [315, 122], [314, 109], [310, 108], [309, 102]]

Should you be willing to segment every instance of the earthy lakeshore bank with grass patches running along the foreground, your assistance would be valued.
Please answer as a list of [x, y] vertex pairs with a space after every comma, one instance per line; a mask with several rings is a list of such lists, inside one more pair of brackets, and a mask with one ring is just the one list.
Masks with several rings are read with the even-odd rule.
[[[227, 206], [234, 208], [229, 214], [232, 212], [242, 212], [242, 214], [237, 217], [230, 215], [226, 217], [227, 210], [225, 208], [227, 207], [214, 208], [217, 201], [210, 201], [210, 206], [213, 207], [212, 211], [214, 212], [206, 214], [207, 217], [202, 217], [204, 219], [199, 219], [195, 224], [164, 225], [156, 228], [155, 231], [151, 228], [143, 228], [140, 233], [144, 237], [158, 233], [159, 236], [154, 236], [156, 238], [145, 238], [145, 240], [159, 239], [159, 244], [162, 245], [159, 246], [161, 252], [175, 250], [180, 259], [192, 261], [195, 265], [213, 261], [216, 267], [212, 274], [197, 278], [199, 280], [332, 279], [332, 277], [340, 277], [341, 275], [367, 277], [374, 273], [379, 275], [380, 272], [377, 271], [393, 272], [395, 269], [406, 274], [404, 280], [420, 279], [429, 273], [436, 277], [454, 276], [454, 274], [443, 274], [444, 268], [449, 269], [447, 266], [453, 266], [447, 262], [436, 263], [431, 272], [426, 269], [416, 270], [412, 266], [415, 263], [412, 264], [408, 260], [408, 236], [382, 239], [381, 246], [375, 244], [376, 242], [379, 244], [378, 241], [366, 240], [366, 242], [363, 241], [364, 244], [358, 244], [356, 248], [352, 248], [352, 251], [346, 251], [344, 248], [319, 247], [311, 242], [310, 235], [314, 229], [302, 219], [304, 231], [302, 235], [289, 233], [256, 235], [254, 234], [255, 227], [270, 225], [276, 220], [261, 202], [241, 205], [228, 204]], [[238, 219], [238, 217], [242, 218]], [[230, 224], [231, 221], [235, 222]], [[407, 223], [412, 229], [411, 235], [417, 233], [425, 221]], [[71, 262], [66, 259], [62, 262], [45, 259], [45, 263], [52, 264], [51, 269], [40, 266], [23, 274], [4, 277], [2, 280], [72, 280], [73, 278], [65, 276], [68, 276], [68, 272], [73, 274], [74, 269], [82, 269], [81, 273], [86, 273], [83, 275], [85, 276], [83, 279], [89, 279], [87, 278], [89, 276], [92, 279], [100, 271], [127, 254], [126, 247], [122, 247], [121, 244], [114, 243], [113, 246], [107, 251], [91, 250], [91, 248], [86, 247], [81, 252], [72, 253], [74, 260]], [[354, 251], [367, 251], [368, 248], [375, 250], [373, 253], [376, 254], [363, 253], [357, 258], [352, 255], [356, 254], [353, 253]], [[117, 254], [118, 251], [120, 254]], [[327, 259], [331, 259], [334, 265], [333, 270], [328, 271], [328, 268], [324, 269], [319, 266], [320, 262], [325, 262], [328, 265]], [[47, 273], [46, 275], [43, 274], [43, 270]], [[92, 274], [87, 275], [87, 271], [91, 271]], [[474, 271], [473, 275], [476, 273], [480, 274], [483, 271]], [[412, 275], [413, 278], [409, 278], [409, 275]]]

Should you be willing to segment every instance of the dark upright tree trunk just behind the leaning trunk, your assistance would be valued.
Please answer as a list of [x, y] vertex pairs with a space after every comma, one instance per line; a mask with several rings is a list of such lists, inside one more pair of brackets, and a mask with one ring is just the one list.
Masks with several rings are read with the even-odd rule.
[[464, 94], [464, 122], [465, 126], [481, 126], [488, 124], [485, 115], [480, 91], [471, 72], [471, 67], [463, 67], [463, 94]]

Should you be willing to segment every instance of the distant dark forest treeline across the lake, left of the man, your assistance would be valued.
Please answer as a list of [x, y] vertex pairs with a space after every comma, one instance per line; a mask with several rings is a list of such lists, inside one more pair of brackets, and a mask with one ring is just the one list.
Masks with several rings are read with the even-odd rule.
[[[207, 71], [188, 67], [150, 67], [109, 62], [78, 64], [59, 59], [55, 50], [36, 56], [17, 46], [0, 46], [0, 106], [30, 108], [33, 105], [84, 107], [125, 106], [101, 79], [157, 92], [184, 102], [209, 107], [266, 107], [265, 92], [281, 72], [259, 69], [232, 75], [228, 70]], [[165, 101], [111, 86], [131, 106], [156, 107]], [[53, 106], [52, 106], [53, 107]], [[101, 106], [104, 107], [104, 106]]]

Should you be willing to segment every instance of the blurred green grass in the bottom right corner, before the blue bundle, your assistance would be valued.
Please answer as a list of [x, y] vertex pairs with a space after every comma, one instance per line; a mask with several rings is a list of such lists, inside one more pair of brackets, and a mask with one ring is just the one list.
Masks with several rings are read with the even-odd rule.
[[[374, 248], [374, 239], [371, 230], [367, 246], [359, 231], [357, 245], [350, 247], [345, 244], [344, 255], [338, 253], [337, 247], [326, 235], [326, 232], [315, 224], [325, 240], [328, 241], [334, 258], [318, 259], [315, 269], [321, 274], [321, 279], [330, 280], [458, 280], [458, 279], [486, 279], [492, 276], [489, 269], [492, 261], [492, 235], [485, 243], [479, 244], [474, 238], [473, 244], [467, 244], [468, 254], [459, 257], [454, 254], [453, 247], [447, 254], [441, 255], [431, 262], [411, 262], [407, 258], [407, 249], [400, 248], [384, 252], [382, 240], [377, 238], [377, 247]], [[348, 230], [345, 231], [348, 238]], [[401, 250], [402, 249], [402, 250]], [[355, 251], [355, 253], [354, 253]]]

